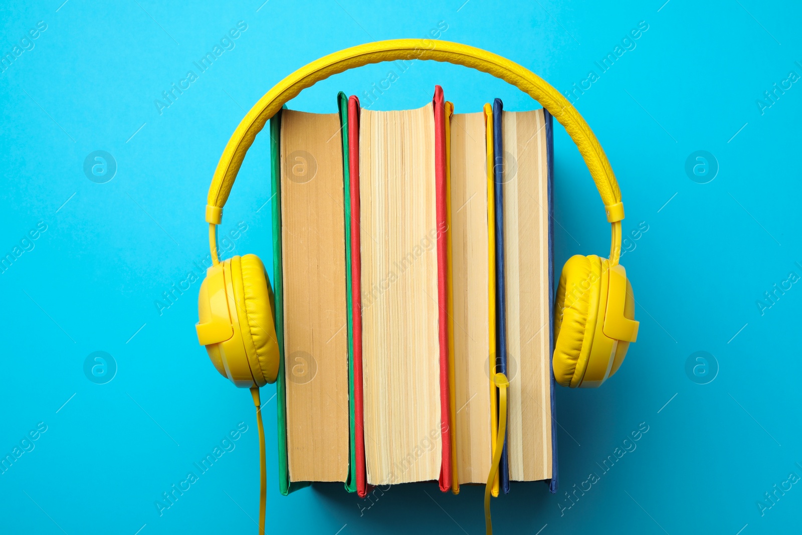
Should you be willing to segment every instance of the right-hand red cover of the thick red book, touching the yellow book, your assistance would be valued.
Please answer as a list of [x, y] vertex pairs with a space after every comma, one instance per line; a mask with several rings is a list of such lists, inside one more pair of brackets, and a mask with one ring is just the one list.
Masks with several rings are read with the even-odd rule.
[[440, 464], [440, 490], [452, 486], [451, 411], [448, 382], [448, 255], [446, 237], [446, 133], [443, 88], [435, 86], [432, 100], [435, 114], [435, 204], [437, 205], [437, 304], [440, 361], [440, 434], [443, 454]]

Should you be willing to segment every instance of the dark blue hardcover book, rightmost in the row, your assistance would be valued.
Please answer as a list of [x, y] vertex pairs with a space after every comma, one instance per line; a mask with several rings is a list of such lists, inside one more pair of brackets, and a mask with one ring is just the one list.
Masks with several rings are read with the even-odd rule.
[[496, 370], [507, 375], [500, 488], [545, 480], [557, 491], [553, 355], [553, 120], [493, 102]]

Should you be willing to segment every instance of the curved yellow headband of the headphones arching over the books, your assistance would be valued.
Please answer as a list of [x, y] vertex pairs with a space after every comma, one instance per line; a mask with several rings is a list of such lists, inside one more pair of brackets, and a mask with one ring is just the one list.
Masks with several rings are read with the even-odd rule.
[[[210, 233], [214, 233], [214, 225], [218, 225], [221, 221], [223, 206], [229, 198], [242, 160], [245, 159], [245, 152], [248, 152], [253, 140], [267, 121], [282, 109], [285, 103], [306, 87], [311, 87], [331, 75], [354, 67], [397, 59], [431, 59], [486, 72], [524, 91], [549, 110], [579, 148], [590, 176], [596, 183], [596, 188], [605, 204], [607, 221], [610, 221], [613, 227], [610, 262], [612, 265], [618, 264], [621, 250], [620, 221], [624, 218], [621, 190], [618, 188], [618, 182], [602, 146], [576, 108], [540, 76], [509, 59], [460, 43], [429, 39], [393, 39], [346, 48], [301, 67], [265, 93], [237, 126], [237, 130], [225, 145], [223, 155], [215, 169], [206, 207], [206, 221], [210, 223]], [[213, 247], [213, 257], [217, 257], [214, 241], [210, 240], [210, 244]]]

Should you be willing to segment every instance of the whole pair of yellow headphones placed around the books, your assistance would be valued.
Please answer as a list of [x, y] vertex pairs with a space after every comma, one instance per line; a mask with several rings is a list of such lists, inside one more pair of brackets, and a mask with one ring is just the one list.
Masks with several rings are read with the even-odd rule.
[[[533, 72], [499, 55], [474, 47], [429, 39], [395, 39], [367, 43], [335, 52], [298, 69], [259, 99], [225, 146], [209, 187], [206, 221], [213, 266], [198, 298], [198, 341], [222, 375], [238, 387], [249, 387], [258, 403], [258, 387], [273, 383], [278, 371], [278, 346], [273, 322], [273, 299], [265, 268], [247, 254], [222, 263], [217, 258], [217, 225], [229, 198], [245, 152], [257, 133], [282, 106], [306, 87], [331, 75], [370, 63], [398, 59], [432, 59], [472, 67], [518, 87], [541, 103], [565, 127], [588, 166], [612, 225], [610, 260], [574, 256], [565, 263], [555, 303], [553, 355], [557, 383], [567, 387], [597, 387], [621, 365], [630, 342], [638, 336], [634, 298], [622, 265], [621, 220], [624, 207], [615, 180], [596, 136], [563, 95]], [[260, 529], [264, 532], [265, 460], [261, 436], [262, 501]]]

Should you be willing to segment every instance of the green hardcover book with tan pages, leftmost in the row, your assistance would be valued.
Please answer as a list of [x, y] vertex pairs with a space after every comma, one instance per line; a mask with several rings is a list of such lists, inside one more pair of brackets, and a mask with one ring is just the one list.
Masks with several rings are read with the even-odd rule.
[[[277, 378], [279, 488], [284, 495], [312, 480], [344, 481], [348, 492], [356, 491], [346, 95], [338, 94], [337, 102], [338, 114], [327, 116], [334, 124], [324, 119], [326, 116], [285, 107], [270, 120], [269, 127], [273, 308], [281, 355]], [[283, 128], [282, 122], [286, 123]], [[308, 152], [302, 150], [306, 138], [298, 137], [304, 129], [311, 136]], [[326, 133], [327, 140], [322, 140], [320, 132], [329, 130], [336, 137], [332, 140]], [[282, 134], [289, 136], [284, 144]], [[340, 146], [331, 147], [338, 140]], [[283, 155], [284, 162], [282, 151], [289, 151]], [[342, 162], [335, 161], [341, 157]], [[341, 163], [342, 175], [338, 170]], [[289, 173], [284, 176], [284, 186], [289, 189], [283, 192], [283, 202], [290, 203], [284, 206], [283, 215], [282, 167]], [[342, 190], [336, 191], [339, 188]], [[282, 217], [288, 219], [282, 221]], [[322, 217], [321, 226], [310, 229], [307, 217]], [[339, 225], [343, 226], [336, 229]], [[282, 243], [282, 237], [289, 241]], [[338, 242], [342, 249], [334, 245]], [[288, 273], [284, 273], [285, 265], [290, 266]], [[285, 302], [288, 293], [295, 296], [290, 297], [291, 302]], [[347, 371], [337, 364], [344, 361]]]

